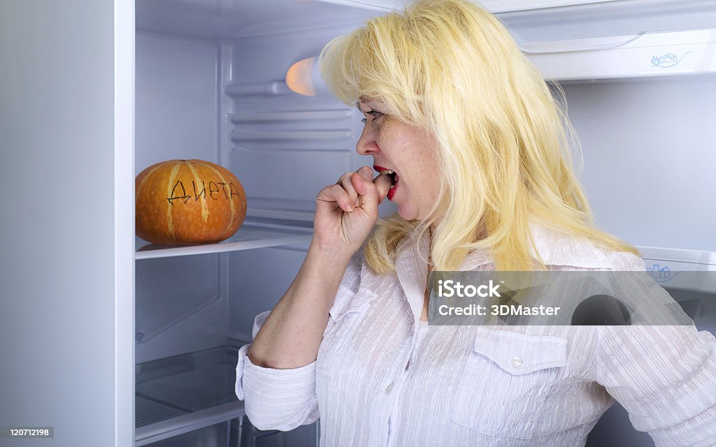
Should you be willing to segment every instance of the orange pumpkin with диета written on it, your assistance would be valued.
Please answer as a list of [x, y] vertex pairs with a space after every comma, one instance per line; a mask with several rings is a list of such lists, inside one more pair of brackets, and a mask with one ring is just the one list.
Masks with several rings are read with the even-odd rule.
[[135, 179], [137, 236], [155, 244], [220, 242], [246, 217], [246, 193], [225, 167], [200, 159], [153, 164]]

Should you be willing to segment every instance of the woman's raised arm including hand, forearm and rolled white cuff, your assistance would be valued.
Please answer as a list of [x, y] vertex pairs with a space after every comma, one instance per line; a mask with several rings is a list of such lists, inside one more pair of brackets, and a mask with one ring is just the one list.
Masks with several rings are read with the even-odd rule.
[[257, 315], [253, 343], [238, 351], [236, 396], [260, 430], [289, 431], [319, 418], [316, 358], [329, 310], [341, 280], [359, 275], [359, 250], [390, 188], [387, 175], [371, 179], [370, 167], [362, 167], [319, 192], [298, 275], [268, 316]]

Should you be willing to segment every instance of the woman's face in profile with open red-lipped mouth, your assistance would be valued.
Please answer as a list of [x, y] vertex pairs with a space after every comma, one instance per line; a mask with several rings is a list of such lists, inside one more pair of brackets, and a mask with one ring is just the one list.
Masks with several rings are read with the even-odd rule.
[[387, 197], [397, 205], [400, 217], [424, 220], [440, 190], [435, 138], [422, 127], [384, 114], [386, 108], [377, 99], [359, 102], [358, 108], [366, 119], [356, 150], [373, 157], [377, 172], [395, 172]]

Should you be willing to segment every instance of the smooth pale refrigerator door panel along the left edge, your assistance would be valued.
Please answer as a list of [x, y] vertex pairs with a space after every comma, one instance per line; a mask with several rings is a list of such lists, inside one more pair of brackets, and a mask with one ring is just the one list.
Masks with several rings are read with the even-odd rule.
[[4, 446], [132, 446], [133, 51], [132, 1], [0, 2]]

